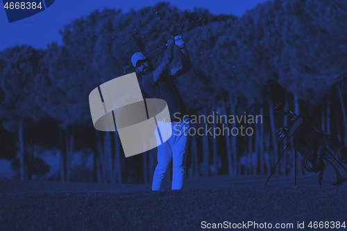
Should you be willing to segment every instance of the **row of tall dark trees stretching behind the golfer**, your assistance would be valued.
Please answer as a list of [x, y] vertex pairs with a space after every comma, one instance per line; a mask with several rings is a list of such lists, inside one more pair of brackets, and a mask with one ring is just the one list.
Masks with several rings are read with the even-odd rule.
[[[2, 51], [1, 121], [17, 134], [22, 180], [24, 156], [31, 155], [27, 150], [35, 143], [23, 135], [24, 125], [37, 123], [37, 130], [48, 129], [54, 137], [44, 145], [60, 149], [61, 180], [71, 178], [74, 150], [89, 147], [94, 151], [94, 181], [151, 182], [155, 150], [124, 158], [117, 132], [92, 128], [88, 95], [124, 75], [133, 53], [158, 49], [171, 35], [183, 35], [192, 60], [192, 70], [178, 80], [190, 113], [263, 116], [263, 123], [246, 125], [254, 129], [252, 136], [192, 137], [188, 176], [269, 173], [285, 144], [276, 137], [276, 128], [287, 117], [272, 112], [282, 101], [296, 114], [314, 114], [326, 132], [347, 145], [346, 12], [346, 2], [338, 0], [269, 1], [239, 18], [203, 9], [182, 11], [168, 3], [127, 13], [96, 10], [60, 31], [62, 46]], [[162, 53], [149, 56], [153, 65]], [[45, 120], [58, 127], [44, 127]], [[224, 124], [230, 129], [241, 125]], [[293, 173], [293, 166], [289, 151], [278, 173]], [[302, 166], [298, 169], [304, 172]]]

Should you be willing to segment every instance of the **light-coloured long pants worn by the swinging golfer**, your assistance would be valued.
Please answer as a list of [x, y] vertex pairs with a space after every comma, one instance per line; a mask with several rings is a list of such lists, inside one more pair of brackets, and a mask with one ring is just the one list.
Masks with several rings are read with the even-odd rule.
[[171, 158], [173, 166], [171, 189], [181, 189], [185, 182], [189, 119], [185, 119], [180, 123], [171, 123], [171, 128], [171, 137], [167, 142], [158, 146], [158, 164], [153, 175], [152, 190], [161, 189], [162, 179], [170, 166]]

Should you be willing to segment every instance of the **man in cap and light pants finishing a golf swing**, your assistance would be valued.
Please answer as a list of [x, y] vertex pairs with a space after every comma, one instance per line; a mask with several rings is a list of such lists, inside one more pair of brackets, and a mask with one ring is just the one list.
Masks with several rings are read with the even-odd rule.
[[[169, 68], [174, 59], [174, 44], [180, 49], [181, 62], [179, 67]], [[143, 53], [137, 52], [131, 57], [131, 62], [137, 71], [137, 77], [143, 91], [150, 98], [159, 98], [167, 102], [172, 127], [172, 135], [162, 145], [158, 146], [158, 164], [153, 175], [152, 190], [160, 190], [162, 179], [173, 162], [173, 176], [171, 189], [181, 189], [185, 181], [187, 144], [189, 141], [189, 118], [182, 96], [176, 86], [176, 78], [190, 69], [190, 59], [181, 36], [167, 40], [167, 50], [162, 62], [157, 68], [151, 65], [151, 60]], [[175, 114], [176, 113], [176, 114]], [[175, 118], [175, 119], [172, 119]]]

